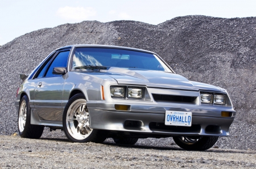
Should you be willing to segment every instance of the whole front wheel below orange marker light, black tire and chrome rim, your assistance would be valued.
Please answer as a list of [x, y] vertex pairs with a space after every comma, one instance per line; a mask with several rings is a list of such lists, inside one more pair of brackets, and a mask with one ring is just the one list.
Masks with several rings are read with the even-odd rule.
[[104, 142], [108, 130], [91, 129], [85, 96], [81, 93], [72, 96], [63, 112], [63, 130], [71, 142]]

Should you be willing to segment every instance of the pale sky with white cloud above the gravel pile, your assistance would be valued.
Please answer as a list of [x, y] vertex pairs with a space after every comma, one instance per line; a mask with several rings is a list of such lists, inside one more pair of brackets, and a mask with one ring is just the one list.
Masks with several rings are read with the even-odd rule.
[[256, 16], [255, 0], [0, 0], [0, 45], [42, 28], [83, 20], [159, 24], [177, 16]]

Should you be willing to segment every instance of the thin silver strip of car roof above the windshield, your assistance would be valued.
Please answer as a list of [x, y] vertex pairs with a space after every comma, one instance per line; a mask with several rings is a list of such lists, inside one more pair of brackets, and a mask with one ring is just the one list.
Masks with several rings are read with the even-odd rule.
[[119, 47], [119, 46], [114, 46], [114, 45], [97, 45], [97, 44], [77, 44], [77, 45], [68, 45], [65, 47], [61, 47], [58, 48], [56, 50], [60, 50], [60, 49], [65, 49], [65, 48], [72, 48], [72, 47], [92, 47], [92, 48], [114, 48], [114, 49], [125, 49], [125, 50], [135, 50], [138, 52], [146, 52], [146, 53], [152, 53], [152, 54], [156, 54], [155, 52], [151, 52], [148, 50], [143, 50], [143, 49], [137, 49], [137, 48], [129, 48], [129, 47]]

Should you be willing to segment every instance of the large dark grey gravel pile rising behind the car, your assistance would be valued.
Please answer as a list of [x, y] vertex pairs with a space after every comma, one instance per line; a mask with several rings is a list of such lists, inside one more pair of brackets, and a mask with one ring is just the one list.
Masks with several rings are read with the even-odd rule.
[[[256, 150], [256, 18], [183, 16], [151, 25], [85, 21], [45, 28], [0, 47], [0, 135], [17, 132], [14, 108], [19, 73], [30, 73], [52, 50], [70, 44], [108, 44], [151, 50], [191, 81], [226, 88], [237, 111], [230, 137], [218, 147]], [[60, 131], [44, 137], [65, 137]], [[172, 138], [139, 140], [170, 145]]]

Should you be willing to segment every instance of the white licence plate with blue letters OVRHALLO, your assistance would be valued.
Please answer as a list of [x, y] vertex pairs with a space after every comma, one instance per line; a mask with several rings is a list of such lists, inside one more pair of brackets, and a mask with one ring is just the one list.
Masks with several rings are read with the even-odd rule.
[[191, 126], [192, 112], [166, 111], [165, 125]]

